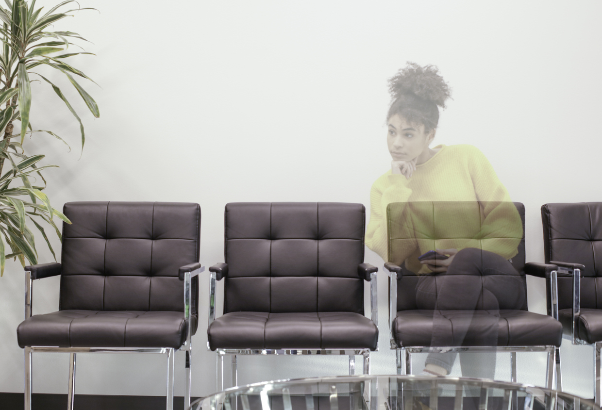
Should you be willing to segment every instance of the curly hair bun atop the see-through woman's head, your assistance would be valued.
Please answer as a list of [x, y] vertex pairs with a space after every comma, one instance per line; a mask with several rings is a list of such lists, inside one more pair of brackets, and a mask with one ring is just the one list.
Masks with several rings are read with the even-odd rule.
[[395, 101], [402, 95], [413, 94], [421, 99], [432, 101], [445, 108], [445, 101], [450, 98], [450, 87], [439, 75], [437, 66], [421, 67], [408, 61], [408, 65], [389, 78], [389, 93]]

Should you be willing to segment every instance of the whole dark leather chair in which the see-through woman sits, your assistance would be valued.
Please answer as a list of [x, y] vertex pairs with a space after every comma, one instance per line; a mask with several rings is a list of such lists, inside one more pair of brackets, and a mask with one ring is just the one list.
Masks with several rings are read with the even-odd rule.
[[[391, 349], [396, 350], [397, 373], [402, 374], [402, 352], [405, 351], [405, 372], [412, 373], [411, 353], [423, 352], [510, 352], [511, 379], [516, 381], [517, 376], [517, 352], [547, 352], [547, 386], [552, 387], [554, 368], [556, 367], [556, 352], [562, 339], [562, 326], [553, 317], [536, 314], [527, 310], [526, 280], [525, 274], [547, 278], [550, 283], [551, 275], [556, 274], [556, 266], [528, 263], [525, 264], [524, 251], [524, 206], [522, 203], [511, 202], [491, 203], [484, 202], [412, 202], [411, 207], [415, 214], [420, 214], [420, 223], [416, 223], [412, 229], [417, 237], [400, 235], [403, 229], [399, 229], [400, 223], [411, 223], [407, 220], [407, 211], [403, 210], [408, 203], [391, 203], [387, 208], [388, 223], [388, 247], [389, 262], [385, 268], [389, 271], [389, 329], [391, 331]], [[510, 207], [510, 208], [508, 208]], [[516, 208], [514, 208], [516, 207]], [[484, 217], [485, 208], [494, 209], [497, 217], [512, 219], [512, 213], [520, 214], [522, 221], [522, 232], [518, 226], [519, 236], [512, 234], [506, 237], [504, 229], [491, 229]], [[505, 209], [504, 209], [505, 208]], [[505, 216], [504, 216], [505, 215]], [[400, 222], [406, 218], [404, 222]], [[515, 221], [518, 215], [514, 217]], [[452, 222], [450, 222], [452, 220]], [[518, 221], [517, 221], [518, 222]], [[440, 223], [456, 224], [458, 231], [462, 234], [449, 235], [450, 228], [439, 229]], [[514, 229], [517, 231], [517, 229]], [[396, 249], [403, 241], [418, 241], [421, 248], [448, 249], [450, 243], [461, 243], [465, 241], [467, 246], [474, 248], [477, 253], [479, 249], [488, 249], [488, 241], [501, 240], [500, 246], [517, 249], [518, 254], [512, 256], [510, 262], [517, 271], [517, 275], [498, 275], [493, 270], [483, 273], [477, 281], [479, 286], [478, 303], [474, 304], [474, 310], [466, 311], [465, 307], [454, 308], [453, 303], [448, 303], [445, 310], [420, 309], [417, 305], [417, 284], [421, 275], [403, 266], [402, 260], [396, 259]], [[451, 241], [451, 242], [450, 242]], [[459, 247], [459, 246], [458, 246]], [[416, 253], [415, 256], [420, 255]], [[481, 253], [482, 255], [482, 253]], [[477, 258], [479, 256], [477, 255]], [[403, 267], [402, 267], [403, 266]], [[445, 275], [429, 275], [436, 291], [440, 295], [442, 281]], [[450, 276], [447, 276], [449, 279]], [[474, 284], [474, 276], [458, 275], [454, 281], [467, 281], [466, 284]], [[472, 282], [469, 282], [472, 281]], [[524, 303], [517, 301], [516, 294], [524, 294]], [[462, 297], [459, 297], [459, 304]], [[438, 305], [441, 300], [437, 300]], [[517, 306], [521, 304], [520, 306]], [[435, 308], [437, 309], [437, 308]], [[491, 309], [494, 309], [493, 311]], [[441, 346], [433, 340], [433, 323], [436, 320], [447, 326], [449, 340], [457, 340], [455, 335], [457, 328], [462, 328], [462, 338], [459, 346]], [[482, 326], [494, 326], [492, 320], [497, 323], [497, 344], [495, 346], [483, 346], [483, 338], [480, 332]], [[445, 328], [439, 326], [438, 329]], [[440, 340], [440, 339], [439, 339]], [[557, 380], [560, 380], [560, 367], [557, 367]]]

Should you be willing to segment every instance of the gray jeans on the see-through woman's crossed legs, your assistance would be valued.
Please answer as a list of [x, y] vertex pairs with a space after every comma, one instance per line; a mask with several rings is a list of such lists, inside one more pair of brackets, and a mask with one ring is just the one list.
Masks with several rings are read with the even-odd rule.
[[[500, 301], [483, 278], [497, 277], [514, 291], [512, 300]], [[430, 346], [497, 346], [500, 302], [504, 309], [521, 309], [525, 301], [523, 278], [497, 253], [476, 248], [460, 250], [447, 272], [424, 275], [416, 287], [419, 309], [433, 311]], [[471, 314], [472, 312], [472, 314]], [[449, 374], [457, 353], [429, 353], [426, 364], [441, 366]], [[492, 379], [495, 353], [462, 353], [462, 375]]]

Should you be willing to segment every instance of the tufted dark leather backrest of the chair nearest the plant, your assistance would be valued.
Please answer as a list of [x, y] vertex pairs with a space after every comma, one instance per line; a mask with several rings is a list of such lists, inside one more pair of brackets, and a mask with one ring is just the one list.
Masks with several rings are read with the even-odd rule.
[[197, 203], [68, 202], [63, 213], [60, 309], [184, 311], [178, 268], [199, 261]]

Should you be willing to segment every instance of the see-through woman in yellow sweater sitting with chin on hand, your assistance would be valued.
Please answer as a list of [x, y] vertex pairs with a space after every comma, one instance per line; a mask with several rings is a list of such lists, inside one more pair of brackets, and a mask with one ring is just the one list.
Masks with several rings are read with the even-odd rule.
[[[430, 346], [497, 346], [499, 309], [526, 303], [524, 279], [510, 262], [523, 236], [520, 215], [479, 149], [431, 148], [439, 107], [450, 97], [437, 67], [408, 63], [389, 79], [389, 92], [392, 160], [371, 188], [365, 243], [385, 261], [420, 275], [416, 303], [432, 312]], [[388, 220], [394, 221], [389, 231]], [[483, 288], [485, 276], [512, 284], [514, 300], [499, 300], [494, 288]], [[455, 357], [429, 354], [422, 374], [450, 373]], [[495, 354], [467, 353], [461, 365], [465, 376], [493, 378]]]

